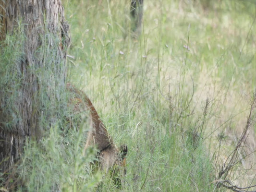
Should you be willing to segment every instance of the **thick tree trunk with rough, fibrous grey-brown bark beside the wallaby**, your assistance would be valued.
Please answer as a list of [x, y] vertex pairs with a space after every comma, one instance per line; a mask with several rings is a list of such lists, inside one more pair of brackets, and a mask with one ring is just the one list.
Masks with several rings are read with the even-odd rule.
[[38, 140], [61, 116], [68, 33], [61, 0], [0, 0], [0, 172], [5, 175], [25, 141]]

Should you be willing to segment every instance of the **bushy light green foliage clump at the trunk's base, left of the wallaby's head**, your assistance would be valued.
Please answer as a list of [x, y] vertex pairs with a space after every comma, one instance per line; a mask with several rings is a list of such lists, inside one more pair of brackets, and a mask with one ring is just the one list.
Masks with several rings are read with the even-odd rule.
[[89, 162], [95, 156], [93, 150], [83, 153], [84, 135], [83, 129], [64, 135], [55, 127], [41, 141], [27, 141], [18, 169], [24, 183], [19, 190], [80, 192], [95, 187], [101, 175], [91, 176]]

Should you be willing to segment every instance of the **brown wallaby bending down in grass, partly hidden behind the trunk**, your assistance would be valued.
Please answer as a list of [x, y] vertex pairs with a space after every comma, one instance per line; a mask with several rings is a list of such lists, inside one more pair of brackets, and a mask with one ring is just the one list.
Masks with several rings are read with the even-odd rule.
[[71, 95], [71, 102], [73, 102], [74, 111], [89, 110], [90, 131], [88, 132], [85, 150], [90, 146], [97, 147], [99, 151], [99, 167], [105, 172], [116, 167], [115, 165], [125, 168], [125, 157], [128, 151], [127, 146], [122, 145], [120, 148], [117, 148], [114, 145], [92, 102], [83, 91], [76, 89], [71, 84], [67, 84], [67, 90], [73, 94]]

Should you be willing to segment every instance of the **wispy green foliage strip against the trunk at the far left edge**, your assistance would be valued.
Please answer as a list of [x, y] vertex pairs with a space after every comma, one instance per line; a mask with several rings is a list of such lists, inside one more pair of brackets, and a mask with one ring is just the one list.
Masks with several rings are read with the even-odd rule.
[[8, 129], [21, 119], [13, 101], [20, 96], [17, 90], [23, 78], [22, 69], [18, 65], [21, 58], [24, 58], [23, 29], [24, 26], [19, 24], [13, 35], [7, 34], [6, 39], [0, 42], [0, 101], [3, 105], [0, 122]]

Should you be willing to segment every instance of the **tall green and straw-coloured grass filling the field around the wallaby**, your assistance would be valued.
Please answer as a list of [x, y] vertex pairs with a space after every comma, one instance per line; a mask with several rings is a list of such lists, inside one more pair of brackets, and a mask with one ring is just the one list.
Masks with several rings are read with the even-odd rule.
[[218, 178], [256, 90], [254, 1], [146, 0], [140, 38], [128, 0], [63, 5], [75, 58], [69, 80], [90, 97], [115, 144], [127, 144], [127, 175], [122, 190], [110, 175], [93, 175], [94, 156], [83, 154], [88, 124], [63, 132], [59, 122], [25, 146], [18, 172], [27, 191], [224, 192], [216, 180], [256, 184], [255, 121], [244, 159]]

